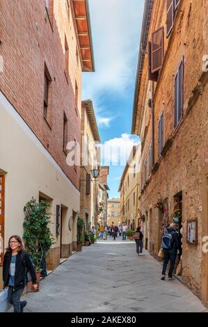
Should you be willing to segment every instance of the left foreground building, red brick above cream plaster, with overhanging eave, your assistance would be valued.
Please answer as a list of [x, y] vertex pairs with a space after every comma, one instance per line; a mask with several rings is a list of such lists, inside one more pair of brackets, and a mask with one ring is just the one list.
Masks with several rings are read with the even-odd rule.
[[0, 41], [0, 265], [34, 197], [51, 205], [52, 270], [77, 248], [81, 74], [94, 70], [88, 1], [3, 0]]

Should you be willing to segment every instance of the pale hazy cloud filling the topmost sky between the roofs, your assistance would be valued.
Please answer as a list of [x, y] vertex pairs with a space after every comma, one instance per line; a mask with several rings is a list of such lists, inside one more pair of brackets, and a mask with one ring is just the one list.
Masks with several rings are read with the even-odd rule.
[[135, 79], [144, 0], [90, 0], [95, 73], [83, 77], [83, 97], [99, 99], [103, 91], [125, 95]]

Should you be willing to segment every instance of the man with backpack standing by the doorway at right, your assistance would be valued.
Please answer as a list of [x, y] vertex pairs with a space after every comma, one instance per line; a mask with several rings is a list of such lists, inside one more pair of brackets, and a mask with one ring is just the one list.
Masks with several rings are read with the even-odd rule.
[[168, 280], [173, 280], [173, 271], [175, 266], [175, 260], [177, 257], [177, 251], [179, 249], [179, 236], [177, 232], [177, 224], [172, 223], [162, 236], [162, 248], [164, 252], [164, 262], [161, 280], [166, 279], [166, 269], [168, 262], [170, 261], [170, 269], [168, 272]]

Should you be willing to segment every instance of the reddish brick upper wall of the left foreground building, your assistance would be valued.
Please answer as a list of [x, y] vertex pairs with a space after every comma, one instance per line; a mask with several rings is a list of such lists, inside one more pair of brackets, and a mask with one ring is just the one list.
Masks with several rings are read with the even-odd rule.
[[[54, 17], [50, 17], [52, 21], [45, 0], [1, 1], [0, 89], [79, 189], [80, 170], [76, 173], [73, 166], [67, 166], [63, 152], [63, 111], [68, 120], [68, 141], [80, 141], [81, 64], [77, 65], [73, 21], [71, 17], [69, 22], [64, 1], [54, 0]], [[68, 81], [64, 74], [65, 35], [70, 49]], [[45, 64], [51, 76], [50, 125], [43, 117]], [[74, 110], [75, 80], [78, 115]]]

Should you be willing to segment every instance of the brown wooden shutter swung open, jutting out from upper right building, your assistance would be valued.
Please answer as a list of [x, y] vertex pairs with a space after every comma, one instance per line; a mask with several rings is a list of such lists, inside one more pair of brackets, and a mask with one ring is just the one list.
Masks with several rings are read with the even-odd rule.
[[164, 28], [161, 27], [152, 33], [152, 73], [158, 72], [163, 63], [164, 54]]

